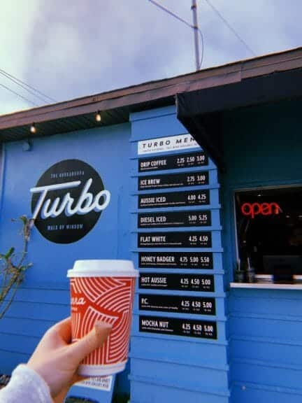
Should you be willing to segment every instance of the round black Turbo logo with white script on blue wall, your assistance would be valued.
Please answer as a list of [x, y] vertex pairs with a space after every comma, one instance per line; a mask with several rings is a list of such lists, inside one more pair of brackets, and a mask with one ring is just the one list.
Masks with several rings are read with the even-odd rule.
[[49, 241], [72, 243], [96, 225], [110, 202], [99, 174], [86, 162], [52, 165], [31, 188], [31, 212], [38, 231]]

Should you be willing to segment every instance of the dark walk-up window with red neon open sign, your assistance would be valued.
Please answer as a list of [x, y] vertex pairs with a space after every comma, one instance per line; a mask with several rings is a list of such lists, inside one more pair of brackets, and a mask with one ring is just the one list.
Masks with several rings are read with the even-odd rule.
[[237, 281], [302, 284], [302, 186], [239, 191], [235, 203]]

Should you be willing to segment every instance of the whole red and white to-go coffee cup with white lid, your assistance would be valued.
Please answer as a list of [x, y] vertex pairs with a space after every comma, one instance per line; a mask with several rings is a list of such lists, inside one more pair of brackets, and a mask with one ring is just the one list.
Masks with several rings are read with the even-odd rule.
[[103, 376], [122, 372], [128, 359], [138, 271], [130, 260], [76, 260], [67, 276], [73, 341], [92, 330], [96, 321], [112, 325], [108, 339], [82, 361], [78, 374]]

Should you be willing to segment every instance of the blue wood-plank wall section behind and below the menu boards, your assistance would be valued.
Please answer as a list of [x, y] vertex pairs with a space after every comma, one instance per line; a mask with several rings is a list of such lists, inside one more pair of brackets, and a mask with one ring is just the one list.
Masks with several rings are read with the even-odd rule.
[[[154, 190], [146, 190], [138, 192], [138, 157], [162, 157], [163, 155], [175, 154], [175, 151], [168, 153], [156, 153], [148, 155], [138, 155], [138, 141], [145, 139], [156, 139], [166, 136], [176, 136], [185, 134], [187, 130], [178, 122], [175, 116], [175, 108], [173, 106], [167, 108], [154, 109], [153, 111], [145, 111], [134, 113], [131, 115], [131, 158], [132, 158], [132, 203], [131, 213], [132, 219], [132, 251], [133, 260], [136, 267], [138, 263], [138, 252], [147, 251], [145, 248], [137, 247], [138, 228], [138, 195], [150, 194]], [[200, 148], [197, 148], [200, 150]], [[180, 150], [177, 153], [192, 152], [191, 150]], [[203, 208], [220, 208], [218, 201], [217, 169], [213, 162], [209, 162], [210, 169], [210, 188], [213, 192], [211, 195], [211, 206]], [[173, 169], [168, 171], [157, 171], [158, 174], [175, 174], [180, 171], [194, 171], [189, 169]], [[196, 170], [196, 168], [195, 168]], [[149, 173], [149, 175], [152, 173]], [[196, 187], [199, 189], [199, 187]], [[195, 188], [195, 189], [196, 189]], [[204, 188], [204, 187], [202, 187]], [[182, 188], [187, 190], [192, 188]], [[159, 192], [164, 192], [159, 190]], [[168, 191], [177, 191], [178, 188]], [[157, 191], [155, 191], [157, 192]], [[182, 209], [192, 209], [193, 207], [184, 207]], [[175, 211], [179, 208], [152, 208], [152, 211]], [[148, 209], [143, 209], [143, 213]], [[213, 223], [214, 225], [214, 223]], [[227, 341], [225, 334], [225, 315], [224, 315], [224, 282], [222, 270], [222, 248], [220, 243], [220, 219], [217, 217], [215, 223], [217, 231], [217, 242], [213, 241], [213, 250], [215, 253], [215, 264], [211, 270], [196, 271], [194, 269], [159, 269], [154, 267], [148, 269], [152, 273], [189, 273], [189, 274], [215, 274], [215, 292], [185, 292], [173, 290], [139, 290], [136, 288], [136, 302], [134, 305], [134, 325], [131, 337], [131, 402], [132, 403], [153, 403], [153, 402], [205, 402], [205, 403], [227, 403], [229, 402], [229, 367], [227, 365]], [[164, 228], [168, 232], [174, 230], [185, 230], [186, 228]], [[196, 229], [196, 228], [191, 228]], [[213, 229], [213, 228], [211, 228]], [[152, 232], [149, 229], [148, 232]], [[149, 251], [163, 251], [164, 249], [149, 249]], [[166, 249], [168, 250], [168, 249]], [[173, 249], [175, 250], [175, 249]], [[181, 249], [183, 250], [183, 249]], [[192, 249], [187, 249], [192, 251]], [[195, 249], [201, 250], [201, 249]], [[203, 249], [204, 250], [204, 249]], [[146, 269], [141, 269], [141, 273]], [[152, 295], [194, 295], [203, 297], [215, 297], [217, 304], [216, 316], [201, 316], [184, 313], [170, 313], [159, 311], [140, 311], [138, 306], [139, 293], [147, 292]], [[195, 320], [216, 320], [217, 321], [217, 340], [200, 339], [196, 337], [177, 336], [175, 334], [152, 334], [141, 332], [139, 330], [140, 315], [160, 316], [166, 318], [192, 318]]]

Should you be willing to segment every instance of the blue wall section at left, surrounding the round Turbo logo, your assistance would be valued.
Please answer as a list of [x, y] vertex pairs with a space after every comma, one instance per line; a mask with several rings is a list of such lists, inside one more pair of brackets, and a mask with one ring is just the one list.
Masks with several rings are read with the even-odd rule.
[[[52, 164], [78, 159], [91, 165], [110, 191], [108, 207], [94, 228], [75, 243], [52, 243], [32, 230], [26, 274], [15, 302], [0, 320], [0, 373], [27, 361], [45, 330], [69, 316], [69, 283], [66, 272], [78, 259], [129, 259], [130, 125], [116, 125], [32, 141], [29, 151], [22, 142], [4, 146], [1, 193], [0, 250], [21, 246], [20, 225], [11, 221], [31, 215], [31, 193], [38, 178]], [[129, 392], [127, 372], [117, 383]]]

